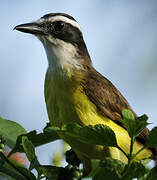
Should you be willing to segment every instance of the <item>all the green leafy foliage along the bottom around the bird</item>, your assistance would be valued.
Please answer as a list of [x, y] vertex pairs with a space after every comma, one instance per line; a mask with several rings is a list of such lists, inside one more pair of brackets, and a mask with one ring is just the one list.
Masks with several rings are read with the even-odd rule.
[[[114, 132], [108, 126], [97, 124], [95, 126], [80, 126], [75, 123], [70, 123], [62, 129], [47, 125], [44, 131], [37, 134], [36, 131], [26, 133], [25, 129], [9, 120], [0, 118], [0, 172], [17, 180], [80, 180], [83, 177], [83, 170], [79, 168], [80, 160], [74, 151], [66, 152], [66, 167], [57, 167], [51, 165], [42, 165], [38, 161], [35, 154], [35, 147], [59, 139], [58, 132], [64, 132], [77, 140], [94, 145], [102, 145], [105, 147], [116, 147], [122, 151], [128, 158], [128, 163], [106, 158], [105, 161], [100, 161], [95, 164], [95, 169], [91, 173], [93, 180], [155, 180], [157, 179], [157, 167], [148, 169], [142, 162], [135, 162], [133, 159], [138, 153], [145, 148], [157, 147], [157, 127], [154, 127], [146, 139], [145, 146], [136, 154], [132, 153], [135, 138], [148, 125], [148, 117], [142, 115], [135, 118], [131, 111], [124, 109], [122, 112], [122, 123], [126, 127], [130, 136], [130, 152], [126, 154], [117, 144]], [[5, 155], [3, 149], [7, 145], [12, 148], [8, 156]], [[30, 162], [28, 168], [22, 167], [9, 158], [15, 152], [24, 152]], [[34, 171], [36, 170], [36, 174]]]

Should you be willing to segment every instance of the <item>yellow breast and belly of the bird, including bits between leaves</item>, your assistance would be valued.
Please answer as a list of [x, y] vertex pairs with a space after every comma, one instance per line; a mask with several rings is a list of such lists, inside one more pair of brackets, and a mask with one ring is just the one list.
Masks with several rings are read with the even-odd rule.
[[[76, 122], [80, 125], [105, 124], [115, 132], [118, 145], [129, 153], [130, 137], [127, 131], [121, 126], [114, 123], [107, 117], [102, 116], [96, 106], [89, 100], [81, 86], [82, 75], [77, 74], [73, 79], [71, 74], [66, 79], [63, 75], [54, 74], [48, 71], [45, 79], [45, 100], [47, 105], [48, 116], [52, 125], [62, 127], [69, 122]], [[105, 150], [102, 146], [93, 146], [82, 144], [75, 139], [60, 134], [61, 137], [78, 153], [88, 156], [89, 158], [104, 159]], [[133, 153], [136, 153], [142, 145], [135, 142]], [[112, 148], [113, 157], [119, 157], [126, 161], [121, 154], [115, 155]], [[136, 159], [149, 157], [151, 152], [142, 151]]]

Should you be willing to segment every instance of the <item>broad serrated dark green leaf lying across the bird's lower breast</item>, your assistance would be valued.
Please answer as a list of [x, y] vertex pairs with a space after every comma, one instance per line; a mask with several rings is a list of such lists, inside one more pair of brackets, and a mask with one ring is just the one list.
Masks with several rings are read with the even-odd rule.
[[79, 126], [78, 124], [68, 124], [64, 131], [86, 144], [96, 144], [103, 146], [117, 147], [117, 141], [114, 132], [108, 126], [97, 124], [95, 126]]

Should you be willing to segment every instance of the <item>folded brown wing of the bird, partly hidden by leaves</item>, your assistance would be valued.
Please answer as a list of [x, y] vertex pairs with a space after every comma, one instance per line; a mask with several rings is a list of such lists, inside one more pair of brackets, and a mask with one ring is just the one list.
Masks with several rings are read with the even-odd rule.
[[[137, 115], [131, 109], [127, 100], [108, 79], [103, 77], [93, 67], [88, 66], [87, 68], [89, 73], [83, 83], [86, 95], [96, 105], [101, 114], [125, 128], [120, 121], [122, 118], [122, 110], [129, 109], [135, 116]], [[148, 129], [145, 128], [137, 137], [137, 141], [144, 144], [148, 134]]]

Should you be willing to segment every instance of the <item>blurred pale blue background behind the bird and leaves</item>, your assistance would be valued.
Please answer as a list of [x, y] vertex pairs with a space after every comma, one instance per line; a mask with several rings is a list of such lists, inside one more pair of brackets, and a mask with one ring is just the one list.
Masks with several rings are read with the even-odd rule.
[[[46, 13], [64, 12], [81, 25], [93, 65], [126, 97], [134, 111], [157, 125], [156, 0], [27, 0], [0, 5], [0, 116], [26, 130], [42, 131], [48, 122], [44, 102], [47, 59], [32, 35], [14, 26]], [[43, 164], [60, 151], [59, 141], [36, 149]]]

